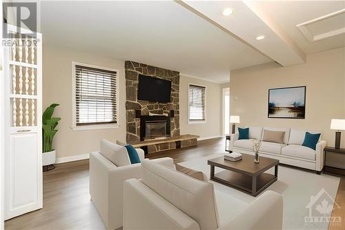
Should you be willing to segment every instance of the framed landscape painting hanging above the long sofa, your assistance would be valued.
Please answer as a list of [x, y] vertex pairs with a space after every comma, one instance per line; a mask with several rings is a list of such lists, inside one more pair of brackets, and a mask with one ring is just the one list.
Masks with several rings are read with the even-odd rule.
[[306, 86], [268, 90], [268, 118], [304, 119]]

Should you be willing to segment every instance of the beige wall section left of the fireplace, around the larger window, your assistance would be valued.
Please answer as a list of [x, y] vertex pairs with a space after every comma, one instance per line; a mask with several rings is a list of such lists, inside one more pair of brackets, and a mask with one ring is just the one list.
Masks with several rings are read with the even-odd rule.
[[[119, 70], [119, 128], [72, 131], [72, 61]], [[55, 46], [43, 46], [43, 110], [60, 104], [55, 116], [61, 117], [53, 142], [57, 157], [83, 155], [99, 150], [99, 141], [126, 141], [126, 88], [124, 61]]]

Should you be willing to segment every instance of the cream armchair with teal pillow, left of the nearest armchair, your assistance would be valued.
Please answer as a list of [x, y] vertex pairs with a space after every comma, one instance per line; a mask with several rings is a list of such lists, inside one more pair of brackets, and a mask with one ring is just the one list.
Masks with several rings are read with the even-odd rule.
[[[137, 152], [140, 160], [144, 160], [144, 151], [137, 149]], [[174, 167], [169, 157], [154, 161]], [[101, 150], [90, 153], [90, 196], [107, 229], [122, 227], [124, 181], [141, 176], [141, 164], [130, 164], [124, 146], [101, 140]]]

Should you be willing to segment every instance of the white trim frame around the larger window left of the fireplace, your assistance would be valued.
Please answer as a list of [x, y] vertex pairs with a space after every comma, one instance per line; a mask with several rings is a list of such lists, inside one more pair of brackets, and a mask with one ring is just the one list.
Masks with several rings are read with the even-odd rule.
[[[116, 124], [86, 124], [83, 126], [77, 126], [77, 113], [76, 108], [77, 104], [75, 101], [75, 66], [86, 66], [90, 68], [99, 68], [101, 70], [109, 70], [109, 71], [115, 71], [117, 73], [116, 75], [116, 81], [117, 81], [117, 89], [116, 89], [116, 111], [117, 111], [117, 123]], [[82, 131], [82, 130], [95, 130], [95, 129], [108, 129], [108, 128], [119, 128], [119, 70], [115, 68], [107, 68], [103, 66], [94, 66], [90, 64], [85, 64], [77, 61], [72, 61], [72, 128], [73, 131]]]

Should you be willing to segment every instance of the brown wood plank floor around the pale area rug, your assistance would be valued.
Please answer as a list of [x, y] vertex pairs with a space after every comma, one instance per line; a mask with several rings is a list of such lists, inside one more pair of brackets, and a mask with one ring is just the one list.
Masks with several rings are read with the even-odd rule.
[[[224, 151], [225, 140], [204, 140], [197, 146], [152, 154], [150, 158], [172, 157], [175, 162]], [[88, 192], [88, 160], [57, 164], [56, 169], [43, 173], [43, 209], [33, 211], [5, 222], [5, 229], [105, 229]], [[342, 178], [336, 198], [345, 207], [345, 179]], [[333, 211], [342, 216], [343, 209]], [[332, 230], [344, 229], [330, 227]]]

